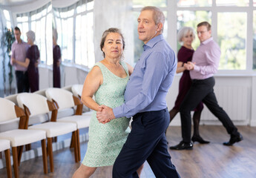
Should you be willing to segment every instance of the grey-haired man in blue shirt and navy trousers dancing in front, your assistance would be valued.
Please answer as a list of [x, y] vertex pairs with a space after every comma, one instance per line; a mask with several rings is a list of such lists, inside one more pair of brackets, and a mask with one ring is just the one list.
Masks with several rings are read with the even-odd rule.
[[102, 123], [133, 116], [131, 133], [114, 163], [114, 178], [138, 177], [137, 169], [145, 160], [156, 177], [180, 177], [171, 163], [165, 138], [170, 120], [165, 97], [177, 62], [162, 35], [164, 21], [163, 12], [157, 7], [141, 10], [137, 30], [144, 52], [126, 86], [125, 103], [113, 110], [102, 106], [103, 110], [97, 112]]

